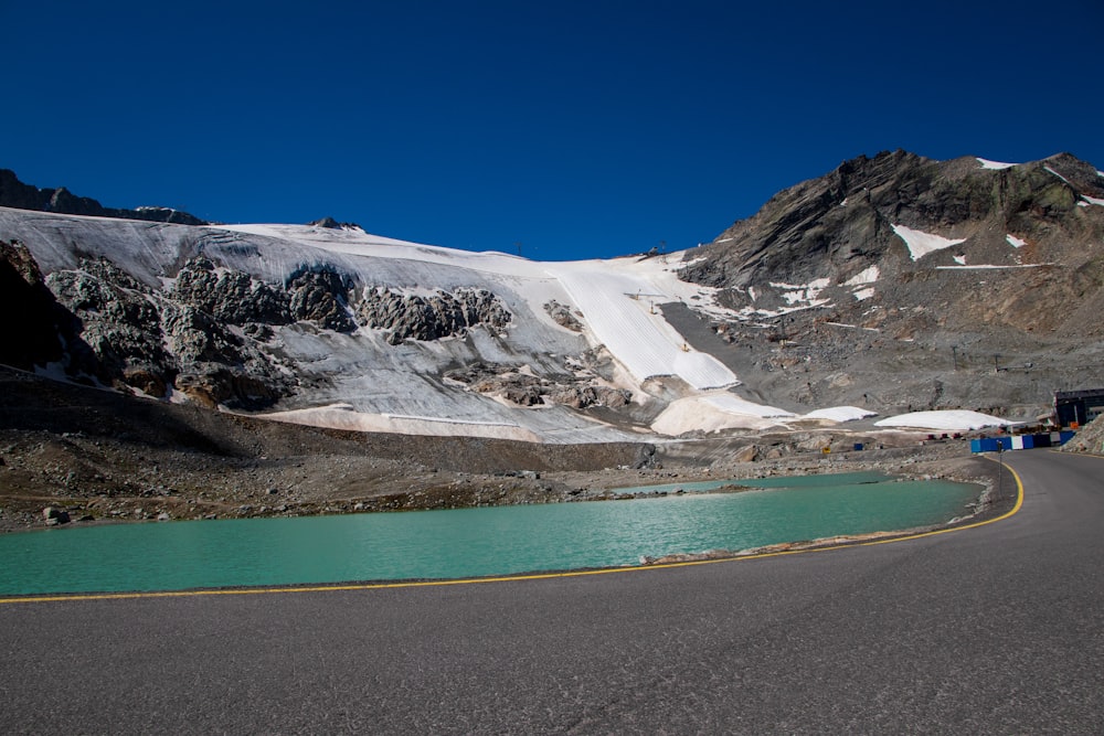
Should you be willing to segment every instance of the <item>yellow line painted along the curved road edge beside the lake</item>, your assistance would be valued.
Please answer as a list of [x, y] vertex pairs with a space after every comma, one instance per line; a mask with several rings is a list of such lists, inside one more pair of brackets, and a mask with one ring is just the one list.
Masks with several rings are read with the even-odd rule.
[[907, 542], [910, 540], [919, 540], [925, 536], [935, 536], [936, 534], [947, 534], [949, 532], [962, 532], [967, 529], [977, 529], [978, 526], [985, 526], [987, 524], [995, 524], [998, 521], [1004, 521], [1009, 516], [1012, 516], [1019, 512], [1020, 508], [1023, 505], [1023, 482], [1020, 480], [1019, 473], [1017, 473], [1012, 468], [1007, 465], [1002, 465], [1010, 473], [1012, 478], [1016, 479], [1016, 503], [1012, 505], [1011, 510], [996, 516], [995, 519], [988, 519], [986, 521], [979, 521], [973, 524], [966, 524], [963, 526], [951, 526], [948, 529], [937, 529], [930, 532], [920, 532], [916, 534], [909, 534], [905, 536], [894, 536], [884, 540], [873, 540], [870, 542], [852, 542], [842, 543], [831, 546], [824, 547], [806, 547], [803, 550], [779, 550], [776, 552], [763, 552], [758, 554], [741, 555], [733, 557], [718, 557], [714, 559], [691, 559], [687, 562], [678, 563], [662, 563], [659, 565], [634, 565], [630, 567], [604, 567], [601, 569], [583, 569], [583, 570], [566, 570], [562, 573], [534, 573], [531, 575], [502, 575], [498, 577], [474, 577], [474, 578], [461, 578], [455, 580], [405, 580], [395, 583], [360, 583], [360, 584], [348, 584], [348, 585], [312, 585], [312, 586], [283, 586], [274, 588], [220, 588], [212, 590], [161, 590], [153, 593], [97, 593], [97, 594], [70, 594], [70, 595], [44, 595], [44, 596], [25, 596], [20, 598], [0, 598], [0, 606], [6, 604], [40, 604], [40, 602], [59, 602], [59, 601], [82, 601], [82, 600], [134, 600], [142, 598], [191, 598], [197, 596], [256, 596], [256, 595], [269, 595], [276, 593], [331, 593], [341, 590], [384, 590], [388, 588], [427, 588], [437, 587], [446, 585], [471, 585], [475, 583], [517, 583], [520, 580], [550, 580], [562, 577], [583, 577], [585, 575], [609, 575], [613, 573], [640, 573], [645, 570], [654, 569], [670, 569], [673, 567], [692, 567], [694, 565], [712, 565], [714, 563], [732, 563], [732, 562], [744, 562], [747, 559], [765, 559], [767, 557], [782, 557], [785, 555], [800, 555], [810, 552], [832, 552], [836, 550], [845, 550], [847, 547], [866, 547], [875, 544], [890, 544], [893, 542]]

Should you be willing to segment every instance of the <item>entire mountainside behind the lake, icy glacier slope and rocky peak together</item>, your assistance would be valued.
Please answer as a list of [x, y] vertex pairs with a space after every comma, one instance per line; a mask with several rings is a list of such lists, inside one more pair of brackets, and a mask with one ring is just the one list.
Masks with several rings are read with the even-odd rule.
[[1104, 381], [1086, 339], [1104, 177], [1068, 156], [856, 159], [668, 256], [540, 263], [329, 220], [17, 207], [0, 244], [0, 307], [34, 316], [0, 360], [326, 427], [573, 444], [1030, 419], [1051, 390]]

